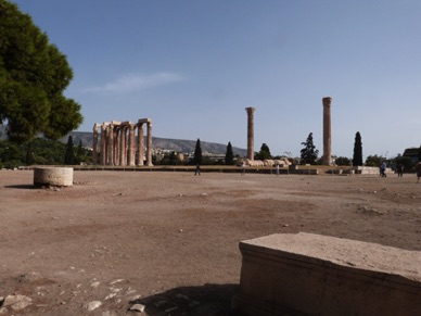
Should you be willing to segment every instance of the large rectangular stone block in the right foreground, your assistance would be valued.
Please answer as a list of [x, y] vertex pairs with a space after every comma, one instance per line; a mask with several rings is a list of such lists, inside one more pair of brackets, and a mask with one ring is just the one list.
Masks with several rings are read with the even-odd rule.
[[421, 315], [421, 252], [311, 233], [240, 242], [246, 315]]

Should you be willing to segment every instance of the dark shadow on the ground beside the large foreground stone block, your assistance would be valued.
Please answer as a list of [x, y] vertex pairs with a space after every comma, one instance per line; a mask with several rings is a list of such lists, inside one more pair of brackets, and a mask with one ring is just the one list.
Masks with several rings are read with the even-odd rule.
[[145, 306], [146, 315], [242, 316], [231, 309], [238, 285], [204, 285], [175, 288], [152, 296], [131, 301]]

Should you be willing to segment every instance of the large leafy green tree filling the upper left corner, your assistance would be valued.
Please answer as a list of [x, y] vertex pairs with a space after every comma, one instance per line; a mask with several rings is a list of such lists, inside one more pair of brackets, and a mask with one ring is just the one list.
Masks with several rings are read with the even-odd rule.
[[10, 140], [58, 139], [77, 128], [80, 105], [63, 96], [73, 78], [66, 56], [8, 0], [0, 0], [0, 123]]

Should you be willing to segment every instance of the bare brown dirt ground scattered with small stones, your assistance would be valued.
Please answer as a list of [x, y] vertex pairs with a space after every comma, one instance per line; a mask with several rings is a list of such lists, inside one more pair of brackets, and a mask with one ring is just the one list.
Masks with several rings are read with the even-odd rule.
[[234, 315], [239, 242], [277, 232], [421, 250], [414, 175], [75, 172], [68, 188], [33, 177], [0, 170], [0, 301], [31, 300], [0, 315]]

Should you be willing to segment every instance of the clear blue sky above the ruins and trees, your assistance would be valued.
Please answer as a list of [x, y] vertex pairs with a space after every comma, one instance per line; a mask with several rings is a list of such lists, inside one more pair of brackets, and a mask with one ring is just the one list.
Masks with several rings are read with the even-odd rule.
[[332, 154], [420, 147], [419, 0], [13, 0], [67, 55], [80, 131], [150, 117], [153, 135], [299, 155], [322, 154], [332, 97]]

